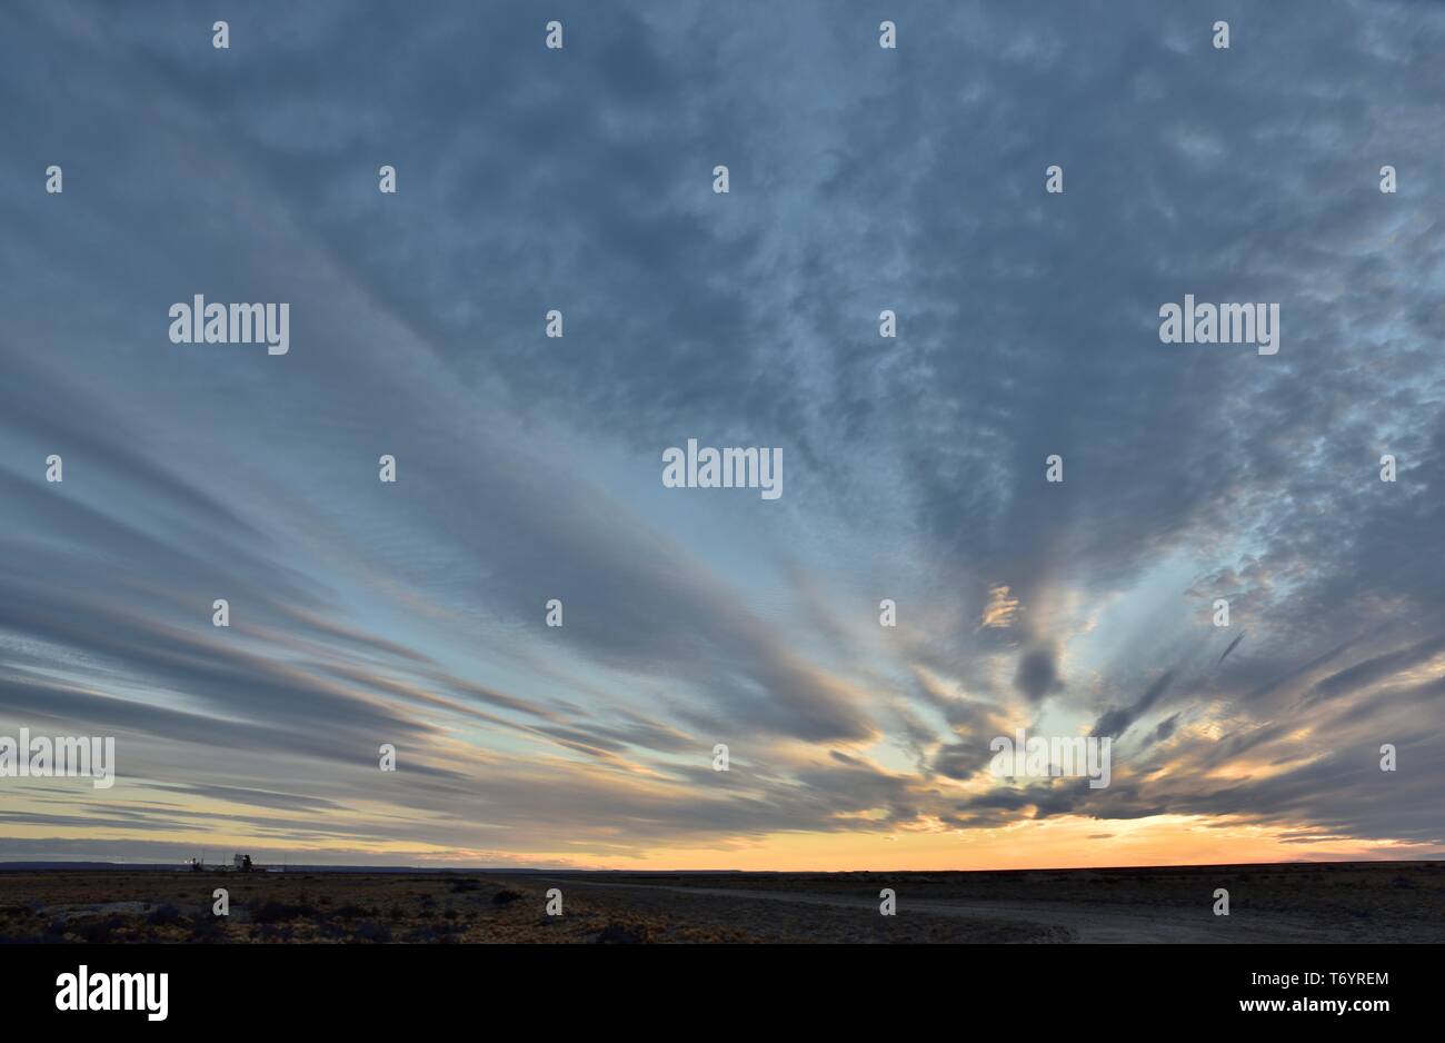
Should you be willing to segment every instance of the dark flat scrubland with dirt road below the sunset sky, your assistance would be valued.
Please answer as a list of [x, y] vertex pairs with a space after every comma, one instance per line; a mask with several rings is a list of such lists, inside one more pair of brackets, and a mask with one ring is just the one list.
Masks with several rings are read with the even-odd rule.
[[[230, 916], [211, 912], [230, 891]], [[879, 913], [896, 893], [897, 914]], [[1215, 916], [1214, 891], [1230, 893]], [[548, 916], [548, 890], [562, 914]], [[1445, 862], [1019, 873], [0, 873], [0, 942], [1445, 942]]]

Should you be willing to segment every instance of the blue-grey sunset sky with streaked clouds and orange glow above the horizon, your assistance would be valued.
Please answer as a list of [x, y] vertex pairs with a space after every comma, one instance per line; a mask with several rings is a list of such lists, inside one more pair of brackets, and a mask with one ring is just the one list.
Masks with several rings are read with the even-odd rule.
[[1445, 6], [212, 7], [0, 9], [0, 860], [1445, 855]]

